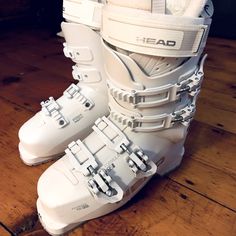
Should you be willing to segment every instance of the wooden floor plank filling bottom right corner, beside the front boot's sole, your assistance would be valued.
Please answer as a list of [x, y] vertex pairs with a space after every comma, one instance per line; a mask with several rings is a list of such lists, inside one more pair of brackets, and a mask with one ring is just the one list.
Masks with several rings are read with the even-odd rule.
[[236, 214], [170, 180], [155, 177], [132, 202], [69, 235], [234, 236]]

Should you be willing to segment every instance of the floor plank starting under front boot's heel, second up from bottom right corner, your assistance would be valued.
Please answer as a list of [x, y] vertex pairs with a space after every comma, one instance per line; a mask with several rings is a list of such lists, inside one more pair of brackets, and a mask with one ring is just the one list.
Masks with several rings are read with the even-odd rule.
[[185, 157], [170, 178], [236, 211], [236, 175]]

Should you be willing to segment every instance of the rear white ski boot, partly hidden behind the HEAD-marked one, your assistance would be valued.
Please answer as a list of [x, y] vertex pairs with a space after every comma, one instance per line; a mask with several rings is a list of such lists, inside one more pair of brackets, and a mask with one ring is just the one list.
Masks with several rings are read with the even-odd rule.
[[42, 110], [21, 127], [19, 151], [27, 165], [58, 158], [71, 141], [89, 134], [98, 117], [108, 114], [101, 37], [95, 32], [102, 6], [96, 1], [64, 1], [64, 17], [76, 22], [62, 23], [64, 54], [76, 63], [72, 74], [79, 83], [71, 84], [59, 99], [42, 102]]

